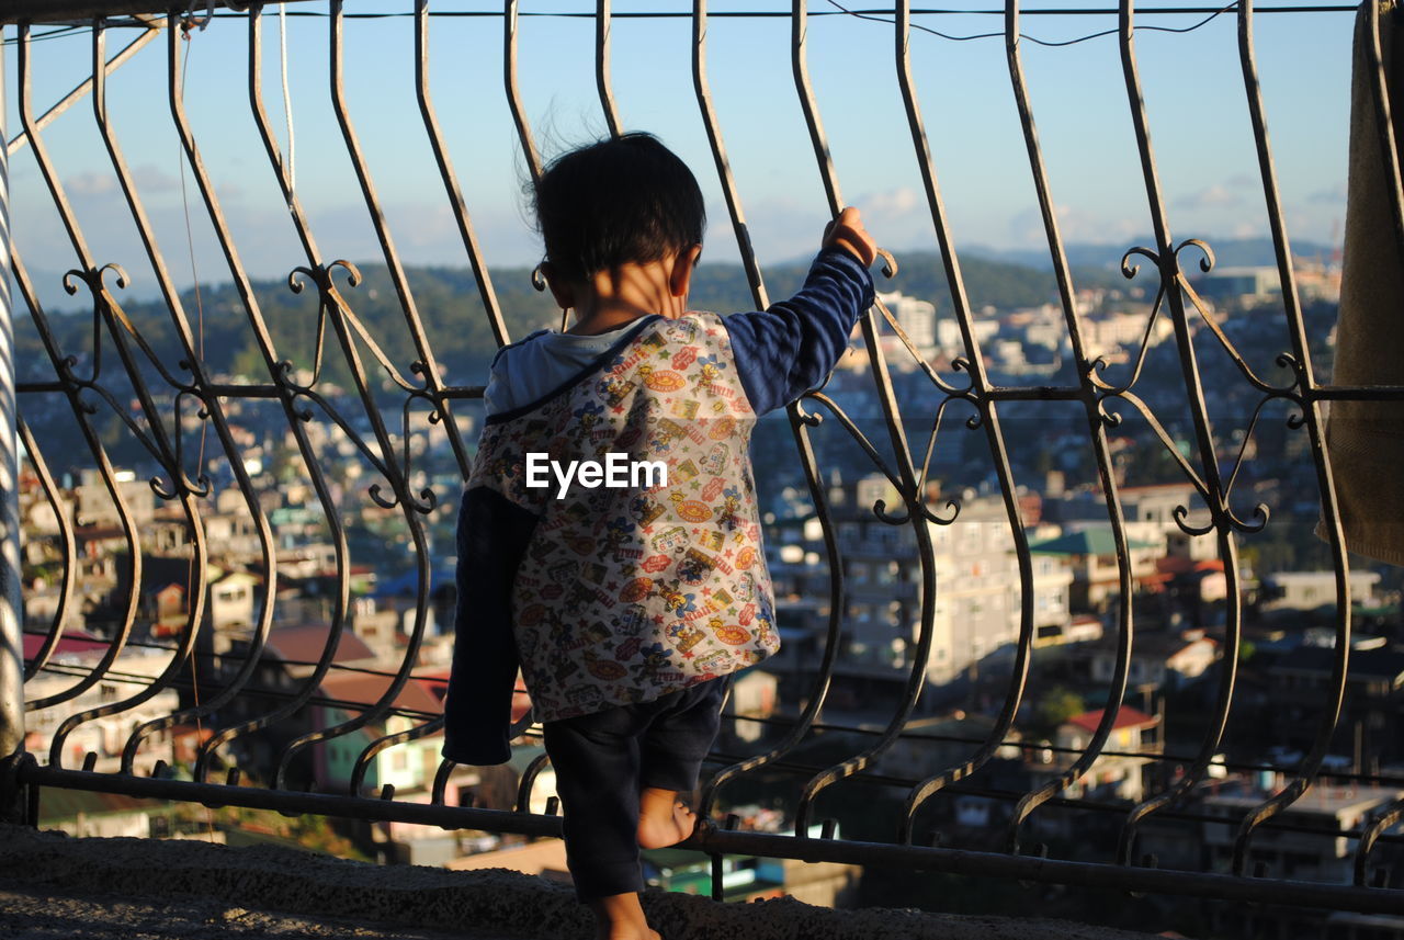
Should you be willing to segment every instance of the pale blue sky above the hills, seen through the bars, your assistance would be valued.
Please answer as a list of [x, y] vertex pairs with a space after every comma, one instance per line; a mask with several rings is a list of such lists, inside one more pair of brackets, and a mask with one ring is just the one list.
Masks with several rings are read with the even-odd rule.
[[[521, 91], [538, 146], [549, 157], [607, 132], [595, 93], [592, 21], [548, 15], [590, 13], [594, 4], [522, 0], [521, 6]], [[614, 91], [626, 129], [657, 133], [696, 173], [709, 205], [705, 261], [727, 262], [739, 255], [692, 90], [691, 21], [622, 15], [689, 7], [681, 0], [615, 0]], [[783, 0], [709, 4], [713, 102], [762, 264], [813, 253], [827, 220], [824, 191], [795, 91], [789, 20], [716, 14], [789, 8]], [[993, 3], [970, 8], [1000, 10]], [[1091, 7], [1099, 13], [1082, 15], [1038, 15], [1039, 8], [1053, 6], [1026, 4], [1021, 49], [1063, 234], [1067, 241], [1106, 244], [1108, 261], [1115, 261], [1150, 231], [1116, 15], [1102, 4]], [[331, 108], [327, 10], [322, 0], [289, 4], [289, 13], [316, 15], [285, 21], [295, 189], [329, 258], [378, 260], [380, 250]], [[487, 262], [532, 265], [541, 247], [525, 216], [526, 164], [503, 86], [503, 18], [496, 15], [501, 4], [435, 0], [431, 10], [494, 14], [434, 18], [430, 81]], [[1139, 7], [1137, 22], [1185, 28], [1206, 18], [1153, 10]], [[347, 11], [404, 14], [413, 3], [347, 0]], [[934, 248], [931, 210], [896, 79], [893, 25], [841, 14], [827, 0], [810, 0], [810, 11], [809, 67], [844, 201], [863, 210], [879, 244], [899, 260], [903, 251]], [[1344, 227], [1352, 21], [1351, 11], [1257, 17], [1268, 126], [1289, 233], [1297, 240], [1338, 241]], [[922, 14], [914, 22], [948, 36], [1002, 29], [1002, 17], [979, 13]], [[34, 34], [48, 29], [35, 27]], [[267, 8], [263, 90], [286, 153], [279, 31], [277, 10]], [[1033, 42], [1066, 42], [1102, 31], [1112, 34], [1063, 46]], [[133, 29], [108, 32], [108, 55], [135, 35]], [[4, 36], [6, 136], [13, 139], [21, 129], [14, 27]], [[253, 122], [247, 36], [244, 18], [220, 17], [194, 31], [178, 55], [187, 62], [185, 100], [195, 136], [243, 261], [256, 278], [282, 278], [305, 258]], [[1237, 14], [1226, 13], [1191, 32], [1139, 29], [1136, 51], [1175, 240], [1266, 234]], [[91, 36], [79, 31], [34, 42], [31, 58], [32, 102], [39, 114], [91, 74]], [[1002, 38], [955, 41], [915, 31], [911, 60], [956, 250], [1042, 247]], [[344, 62], [351, 121], [404, 262], [466, 265], [416, 104], [413, 18], [348, 20]], [[173, 129], [164, 36], [112, 76], [108, 114], [176, 281], [187, 285], [197, 274], [204, 282], [227, 281]], [[122, 262], [133, 290], [149, 292], [150, 269], [91, 102], [84, 100], [62, 115], [44, 139], [94, 254]], [[10, 177], [17, 250], [41, 278], [45, 302], [60, 303], [58, 275], [74, 267], [76, 258], [29, 147], [11, 157]]]

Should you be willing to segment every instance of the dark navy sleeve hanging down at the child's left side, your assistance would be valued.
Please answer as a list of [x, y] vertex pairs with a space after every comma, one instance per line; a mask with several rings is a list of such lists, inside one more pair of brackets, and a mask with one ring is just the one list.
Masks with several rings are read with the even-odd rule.
[[511, 758], [517, 636], [512, 581], [536, 516], [487, 487], [463, 494], [458, 513], [458, 612], [444, 699], [442, 755], [476, 766]]

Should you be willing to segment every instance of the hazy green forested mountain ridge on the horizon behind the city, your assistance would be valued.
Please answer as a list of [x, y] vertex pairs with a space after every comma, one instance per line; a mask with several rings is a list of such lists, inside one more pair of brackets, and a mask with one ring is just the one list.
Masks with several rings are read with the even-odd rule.
[[[1254, 248], [1257, 246], [1257, 248]], [[1120, 250], [1105, 246], [1074, 246], [1074, 285], [1116, 286], [1125, 283], [1115, 269]], [[1262, 251], [1262, 243], [1237, 241], [1224, 244], [1220, 264], [1254, 264]], [[1035, 253], [1002, 253], [1002, 258], [991, 258], [981, 250], [970, 250], [960, 257], [960, 274], [970, 309], [980, 313], [1036, 306], [1057, 299], [1057, 285], [1050, 267], [1033, 261]], [[1026, 261], [1015, 261], [1024, 258]], [[1108, 260], [1111, 258], [1111, 260]], [[1271, 248], [1268, 248], [1271, 261]], [[765, 285], [772, 302], [793, 293], [803, 283], [809, 262], [776, 265], [764, 271]], [[361, 265], [364, 282], [357, 288], [344, 288], [338, 276], [337, 285], [351, 304], [351, 310], [376, 338], [386, 355], [407, 379], [409, 363], [418, 358], [406, 314], [400, 307], [396, 290], [385, 265]], [[491, 272], [493, 285], [507, 325], [508, 335], [519, 338], [539, 327], [559, 325], [560, 311], [555, 309], [549, 293], [538, 293], [531, 286], [531, 272], [526, 268], [496, 268]], [[901, 290], [906, 295], [931, 300], [938, 310], [952, 309], [952, 292], [946, 283], [941, 255], [935, 253], [904, 253], [899, 257], [899, 272], [892, 281], [878, 276], [879, 290]], [[410, 289], [424, 334], [434, 358], [444, 368], [449, 384], [480, 384], [497, 342], [484, 314], [484, 304], [477, 295], [477, 286], [468, 268], [410, 268], [407, 271]], [[307, 368], [314, 359], [317, 333], [317, 297], [313, 289], [293, 295], [282, 279], [258, 281], [254, 293], [263, 310], [264, 321], [272, 335], [279, 359], [291, 359], [295, 365]], [[133, 299], [118, 293], [129, 320], [138, 327], [153, 349], [167, 363], [183, 358], [174, 331], [170, 327], [170, 313], [159, 299]], [[694, 278], [691, 306], [698, 310], [730, 313], [753, 309], [751, 289], [746, 272], [739, 265], [703, 264]], [[197, 310], [204, 310], [205, 358], [212, 372], [241, 372], [250, 376], [267, 375], [267, 366], [254, 344], [247, 324], [247, 316], [234, 289], [225, 285], [204, 286], [199, 304], [192, 290], [181, 295], [187, 317], [194, 324]], [[66, 355], [86, 359], [91, 349], [93, 318], [86, 292], [74, 304], [74, 313], [51, 313], [51, 324], [58, 334], [59, 347]], [[70, 307], [72, 310], [72, 307]], [[28, 317], [15, 318], [15, 342], [18, 362], [27, 366], [24, 379], [42, 379], [52, 375], [52, 366], [38, 342]], [[105, 341], [110, 342], [110, 341]], [[334, 349], [336, 335], [327, 331], [324, 354], [327, 365], [324, 377], [345, 383], [350, 372], [343, 356]], [[373, 366], [365, 349], [362, 359], [368, 370], [382, 377], [379, 366]], [[115, 359], [105, 359], [115, 365]], [[108, 366], [111, 368], [111, 366]], [[80, 369], [81, 373], [81, 369]]]

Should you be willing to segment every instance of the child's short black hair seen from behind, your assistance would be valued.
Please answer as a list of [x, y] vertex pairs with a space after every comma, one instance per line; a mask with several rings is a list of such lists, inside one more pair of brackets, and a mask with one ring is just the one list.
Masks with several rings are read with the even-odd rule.
[[651, 133], [626, 133], [563, 153], [532, 191], [555, 275], [580, 282], [702, 244], [696, 177]]

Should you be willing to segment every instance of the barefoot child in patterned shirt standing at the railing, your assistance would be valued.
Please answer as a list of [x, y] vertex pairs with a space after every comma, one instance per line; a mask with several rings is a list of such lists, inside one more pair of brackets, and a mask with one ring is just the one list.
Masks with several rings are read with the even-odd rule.
[[642, 133], [555, 160], [535, 210], [542, 275], [576, 323], [493, 359], [458, 523], [444, 756], [508, 759], [519, 666], [597, 937], [657, 940], [639, 849], [692, 835], [677, 797], [731, 673], [779, 647], [751, 429], [834, 368], [873, 302], [876, 248], [845, 209], [789, 300], [687, 313], [702, 194]]

